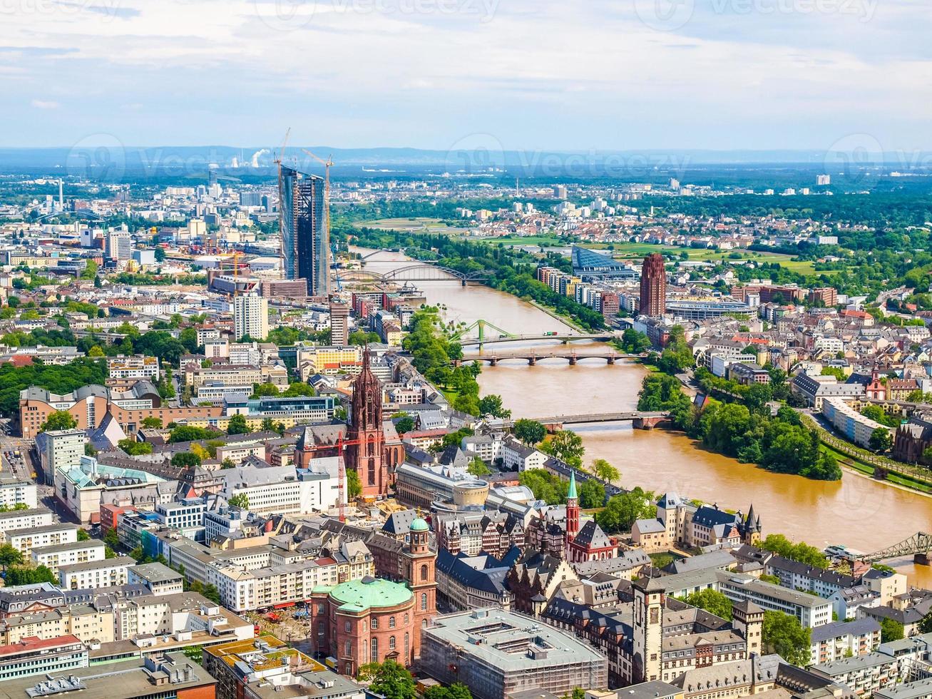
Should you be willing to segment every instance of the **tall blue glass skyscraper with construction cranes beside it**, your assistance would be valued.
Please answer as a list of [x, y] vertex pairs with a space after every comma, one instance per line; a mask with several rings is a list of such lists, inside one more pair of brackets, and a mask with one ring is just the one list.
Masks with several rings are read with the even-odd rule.
[[308, 296], [330, 290], [330, 240], [324, 181], [281, 166], [281, 243], [287, 279], [308, 281]]

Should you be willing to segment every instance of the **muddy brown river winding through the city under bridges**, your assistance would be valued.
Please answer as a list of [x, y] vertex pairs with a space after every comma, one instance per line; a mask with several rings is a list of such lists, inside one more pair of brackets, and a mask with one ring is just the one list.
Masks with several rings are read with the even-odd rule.
[[[404, 254], [381, 253], [367, 260], [366, 269], [386, 272], [405, 262], [409, 260]], [[472, 323], [481, 318], [515, 335], [568, 331], [541, 309], [485, 286], [415, 283], [430, 303], [445, 307], [449, 321]], [[535, 346], [542, 350], [546, 344]], [[574, 346], [582, 351], [587, 344]], [[478, 380], [483, 394], [500, 394], [514, 417], [521, 418], [633, 409], [644, 373], [635, 363], [609, 366], [595, 359], [576, 366], [564, 360], [542, 360], [536, 366], [509, 360], [484, 368]], [[678, 432], [632, 430], [630, 425], [574, 429], [583, 437], [586, 461], [608, 459], [621, 471], [624, 487], [640, 486], [658, 494], [673, 490], [742, 512], [753, 503], [765, 535], [783, 533], [820, 548], [843, 543], [870, 552], [927, 530], [932, 516], [932, 498], [854, 473], [845, 472], [841, 482], [812, 481], [738, 463]], [[911, 558], [886, 563], [909, 575], [912, 584], [932, 586], [929, 567], [914, 566]]]

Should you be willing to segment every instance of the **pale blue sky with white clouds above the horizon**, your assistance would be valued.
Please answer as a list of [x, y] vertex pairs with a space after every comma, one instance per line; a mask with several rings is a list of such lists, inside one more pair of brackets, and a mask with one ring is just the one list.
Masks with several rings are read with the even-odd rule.
[[917, 0], [0, 0], [0, 145], [929, 149], [930, 35]]

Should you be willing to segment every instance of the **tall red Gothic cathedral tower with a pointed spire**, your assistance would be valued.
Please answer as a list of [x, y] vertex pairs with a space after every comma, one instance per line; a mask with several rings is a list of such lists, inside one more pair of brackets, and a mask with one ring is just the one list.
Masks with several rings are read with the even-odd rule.
[[347, 467], [359, 473], [364, 498], [388, 495], [389, 469], [384, 459], [382, 387], [369, 367], [369, 349], [363, 352], [363, 372], [353, 382], [347, 439]]

